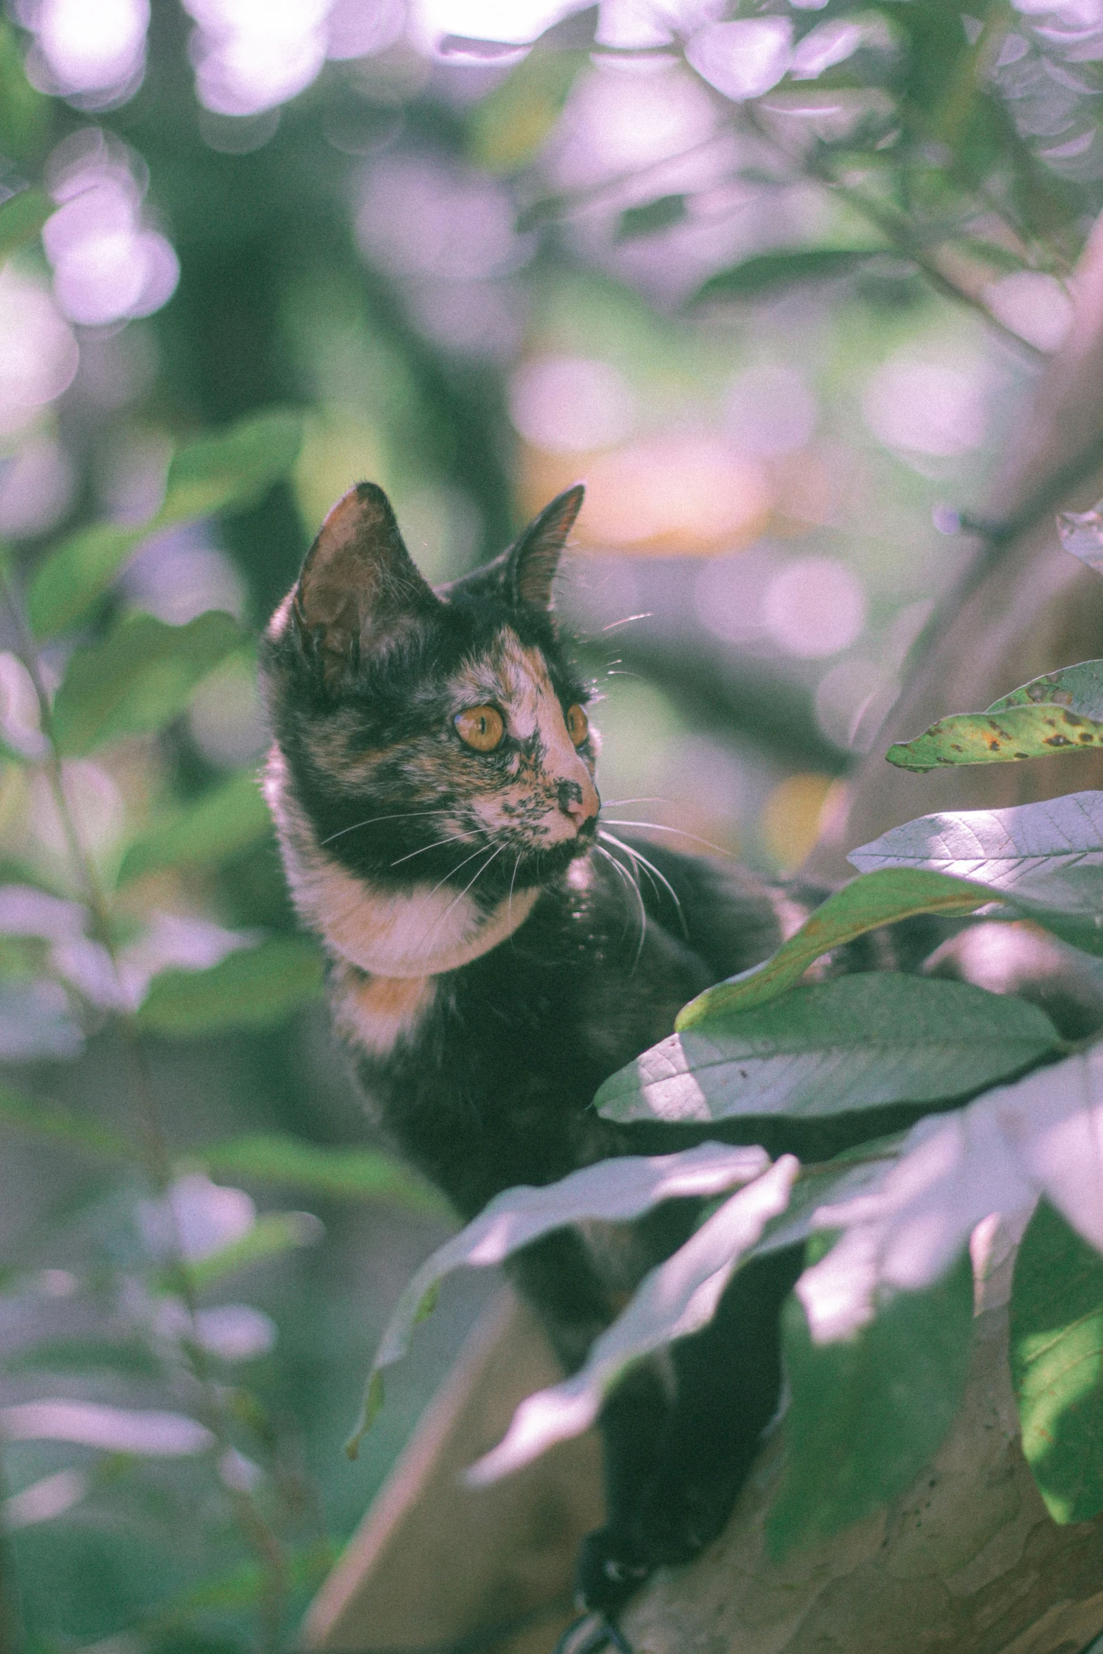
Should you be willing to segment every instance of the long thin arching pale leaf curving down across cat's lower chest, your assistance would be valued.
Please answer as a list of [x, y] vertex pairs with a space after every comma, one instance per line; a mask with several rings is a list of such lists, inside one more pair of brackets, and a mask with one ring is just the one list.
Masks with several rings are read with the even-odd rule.
[[427, 1297], [438, 1290], [453, 1269], [465, 1264], [493, 1267], [519, 1247], [567, 1224], [585, 1219], [628, 1222], [660, 1201], [721, 1194], [761, 1176], [767, 1166], [766, 1150], [701, 1143], [681, 1154], [604, 1159], [544, 1188], [523, 1186], [496, 1194], [466, 1229], [422, 1264], [399, 1298], [375, 1351], [357, 1429], [346, 1444], [349, 1457], [357, 1454], [370, 1424], [369, 1414], [382, 1404], [380, 1370], [402, 1360]]

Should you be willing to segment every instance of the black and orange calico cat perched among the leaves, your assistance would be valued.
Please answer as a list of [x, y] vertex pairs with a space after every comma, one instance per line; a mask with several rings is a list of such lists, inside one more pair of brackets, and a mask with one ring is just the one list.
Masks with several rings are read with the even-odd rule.
[[[680, 1128], [602, 1120], [597, 1087], [807, 911], [734, 865], [650, 845], [652, 885], [633, 880], [643, 853], [599, 829], [589, 690], [552, 615], [580, 504], [567, 490], [501, 557], [433, 590], [382, 490], [361, 483], [263, 652], [266, 797], [326, 948], [336, 1027], [390, 1141], [465, 1219], [514, 1184], [686, 1146]], [[668, 1202], [516, 1259], [567, 1370], [696, 1216]], [[615, 1613], [723, 1528], [777, 1409], [777, 1307], [799, 1267], [782, 1252], [738, 1274], [714, 1325], [605, 1406], [609, 1517], [579, 1561], [589, 1608]]]

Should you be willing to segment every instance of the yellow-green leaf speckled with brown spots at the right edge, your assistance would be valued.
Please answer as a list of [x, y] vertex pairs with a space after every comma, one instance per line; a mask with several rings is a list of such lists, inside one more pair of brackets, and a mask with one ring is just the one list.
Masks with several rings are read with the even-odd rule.
[[[1024, 685], [1014, 693], [1025, 695], [1030, 688], [1034, 685]], [[1025, 758], [1053, 758], [1093, 746], [1103, 746], [1103, 723], [1098, 719], [1085, 718], [1057, 700], [1039, 698], [1030, 705], [1005, 696], [984, 713], [939, 718], [913, 741], [893, 743], [885, 758], [898, 769], [923, 772], [951, 764], [1017, 764]]]

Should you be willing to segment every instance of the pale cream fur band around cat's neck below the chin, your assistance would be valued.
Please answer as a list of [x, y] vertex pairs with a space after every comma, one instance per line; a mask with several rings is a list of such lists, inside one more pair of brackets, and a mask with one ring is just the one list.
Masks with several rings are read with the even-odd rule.
[[485, 911], [466, 892], [418, 883], [387, 890], [349, 873], [319, 847], [284, 786], [273, 753], [265, 794], [279, 824], [283, 860], [299, 916], [327, 948], [370, 976], [428, 978], [458, 971], [524, 925], [539, 890], [516, 890]]

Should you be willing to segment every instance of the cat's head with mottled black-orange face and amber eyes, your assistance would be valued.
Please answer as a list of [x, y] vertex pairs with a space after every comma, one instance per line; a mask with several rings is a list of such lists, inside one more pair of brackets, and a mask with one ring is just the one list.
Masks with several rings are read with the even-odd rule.
[[337, 501], [265, 642], [284, 842], [375, 887], [471, 882], [486, 908], [589, 850], [595, 736], [551, 615], [580, 504], [433, 589], [380, 488]]

